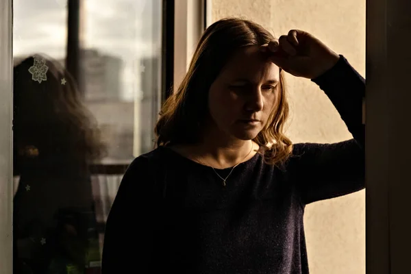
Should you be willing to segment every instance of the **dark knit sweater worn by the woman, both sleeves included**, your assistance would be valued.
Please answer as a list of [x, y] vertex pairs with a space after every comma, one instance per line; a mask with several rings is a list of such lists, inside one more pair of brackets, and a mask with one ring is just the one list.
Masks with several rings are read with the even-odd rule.
[[225, 187], [210, 167], [171, 149], [140, 155], [108, 216], [102, 273], [308, 273], [305, 206], [364, 188], [364, 79], [340, 56], [312, 81], [352, 140], [296, 144], [284, 168], [257, 153]]

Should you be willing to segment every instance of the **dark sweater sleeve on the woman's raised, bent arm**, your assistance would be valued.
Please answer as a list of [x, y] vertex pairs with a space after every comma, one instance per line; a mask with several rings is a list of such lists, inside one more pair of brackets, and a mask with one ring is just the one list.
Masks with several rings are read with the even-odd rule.
[[365, 188], [365, 79], [340, 55], [337, 64], [312, 82], [332, 101], [353, 139], [334, 144], [297, 144], [298, 184], [303, 204]]

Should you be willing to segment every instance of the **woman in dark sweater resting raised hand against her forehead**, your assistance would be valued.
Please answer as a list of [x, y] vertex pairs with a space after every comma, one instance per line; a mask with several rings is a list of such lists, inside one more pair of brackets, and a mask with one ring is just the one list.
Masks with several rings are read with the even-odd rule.
[[[293, 145], [284, 71], [318, 84], [354, 138]], [[208, 27], [162, 108], [158, 148], [123, 177], [103, 274], [308, 273], [305, 206], [364, 188], [364, 90], [306, 32], [276, 40], [238, 18]]]

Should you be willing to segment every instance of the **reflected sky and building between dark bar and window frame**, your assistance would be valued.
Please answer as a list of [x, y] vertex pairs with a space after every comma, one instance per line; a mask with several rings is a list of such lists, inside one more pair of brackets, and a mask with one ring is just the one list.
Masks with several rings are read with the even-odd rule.
[[161, 2], [82, 5], [86, 100], [111, 140], [105, 160], [130, 160], [153, 148], [153, 136], [143, 136], [152, 132], [160, 98]]

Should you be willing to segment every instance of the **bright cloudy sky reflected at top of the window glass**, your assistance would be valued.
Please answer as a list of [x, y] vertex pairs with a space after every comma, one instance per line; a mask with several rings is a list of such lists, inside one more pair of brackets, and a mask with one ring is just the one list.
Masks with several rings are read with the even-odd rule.
[[[161, 51], [161, 1], [81, 1], [84, 47], [123, 60], [123, 97], [133, 99], [139, 86], [136, 62]], [[14, 0], [14, 56], [45, 53], [64, 58], [66, 19], [66, 0]]]

